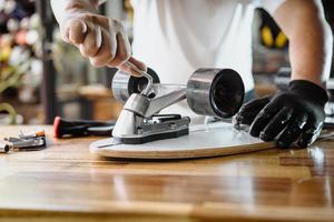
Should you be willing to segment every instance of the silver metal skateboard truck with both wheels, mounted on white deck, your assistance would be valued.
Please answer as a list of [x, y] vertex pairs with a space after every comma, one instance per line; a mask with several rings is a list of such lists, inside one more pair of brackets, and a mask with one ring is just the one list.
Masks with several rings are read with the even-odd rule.
[[141, 144], [188, 134], [188, 117], [158, 114], [184, 99], [195, 113], [218, 119], [233, 117], [243, 103], [244, 83], [232, 69], [198, 69], [186, 85], [161, 84], [151, 69], [138, 72], [143, 77], [119, 70], [112, 79], [114, 97], [125, 103], [112, 130], [115, 144]]

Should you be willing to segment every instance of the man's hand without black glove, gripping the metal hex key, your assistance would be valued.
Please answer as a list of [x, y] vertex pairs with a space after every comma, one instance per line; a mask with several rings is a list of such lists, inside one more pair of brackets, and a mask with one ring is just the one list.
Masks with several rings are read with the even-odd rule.
[[146, 71], [146, 65], [131, 57], [124, 26], [117, 20], [97, 14], [97, 6], [94, 2], [94, 0], [51, 1], [63, 41], [76, 46], [94, 67], [119, 68], [134, 75], [140, 75], [125, 64], [129, 60]]

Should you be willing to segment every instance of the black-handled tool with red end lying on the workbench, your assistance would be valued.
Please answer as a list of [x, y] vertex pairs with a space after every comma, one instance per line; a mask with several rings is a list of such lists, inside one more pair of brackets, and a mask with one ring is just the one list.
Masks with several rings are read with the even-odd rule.
[[67, 120], [56, 117], [53, 120], [55, 138], [73, 138], [85, 135], [109, 137], [115, 121]]

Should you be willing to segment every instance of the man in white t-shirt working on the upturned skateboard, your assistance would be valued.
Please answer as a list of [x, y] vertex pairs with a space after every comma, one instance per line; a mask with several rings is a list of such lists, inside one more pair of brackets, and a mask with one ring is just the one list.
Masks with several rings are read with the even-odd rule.
[[[263, 7], [289, 39], [292, 81], [287, 92], [246, 103], [236, 119], [249, 133], [277, 145], [307, 147], [320, 134], [332, 32], [320, 0], [132, 0], [132, 52], [124, 27], [96, 13], [98, 0], [51, 0], [66, 42], [95, 67], [117, 67], [138, 75], [145, 61], [164, 83], [186, 83], [198, 68], [232, 68], [242, 74], [246, 95], [252, 78], [252, 21]], [[134, 54], [134, 57], [132, 57]], [[185, 111], [181, 105], [178, 111]]]

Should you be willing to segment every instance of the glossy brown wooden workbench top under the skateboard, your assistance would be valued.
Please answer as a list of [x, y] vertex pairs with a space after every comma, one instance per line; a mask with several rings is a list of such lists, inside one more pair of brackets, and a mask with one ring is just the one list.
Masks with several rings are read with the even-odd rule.
[[[27, 127], [0, 125], [0, 139]], [[0, 154], [0, 221], [334, 221], [334, 142], [170, 162], [106, 160], [97, 138]]]

